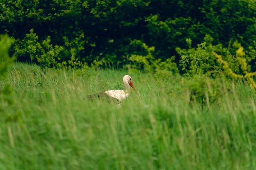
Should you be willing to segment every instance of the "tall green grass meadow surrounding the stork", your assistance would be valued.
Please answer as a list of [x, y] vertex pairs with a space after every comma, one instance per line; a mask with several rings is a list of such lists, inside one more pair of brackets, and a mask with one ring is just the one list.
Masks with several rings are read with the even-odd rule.
[[[117, 107], [83, 97], [124, 89], [129, 74], [138, 94]], [[230, 82], [202, 109], [189, 103], [181, 77], [155, 79], [126, 70], [92, 76], [14, 63], [1, 86], [0, 170], [241, 170], [256, 169], [256, 104], [251, 88]]]

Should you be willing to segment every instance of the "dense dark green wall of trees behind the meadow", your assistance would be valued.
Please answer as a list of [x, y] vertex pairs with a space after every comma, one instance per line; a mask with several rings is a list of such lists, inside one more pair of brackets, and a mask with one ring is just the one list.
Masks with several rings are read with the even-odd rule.
[[1, 0], [0, 34], [15, 38], [12, 54], [19, 61], [47, 67], [71, 56], [123, 66], [133, 63], [133, 54], [148, 54], [143, 43], [154, 48], [156, 60], [175, 56], [178, 64], [176, 48], [186, 48], [186, 39], [195, 48], [206, 35], [232, 55], [238, 41], [254, 59], [255, 16], [254, 0]]

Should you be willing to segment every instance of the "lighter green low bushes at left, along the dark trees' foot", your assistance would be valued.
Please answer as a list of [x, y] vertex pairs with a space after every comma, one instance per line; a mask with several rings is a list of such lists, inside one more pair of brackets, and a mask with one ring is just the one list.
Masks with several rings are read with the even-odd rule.
[[[62, 58], [62, 55], [64, 54], [67, 54], [69, 58], [64, 60]], [[26, 34], [23, 40], [16, 40], [14, 56], [16, 58], [19, 58], [20, 56], [30, 57], [30, 61], [39, 64], [43, 72], [50, 68], [60, 68], [64, 70], [74, 69], [79, 75], [89, 74], [90, 70], [96, 70], [101, 64], [101, 62], [94, 60], [91, 67], [89, 67], [86, 62], [83, 62], [76, 57], [75, 48], [72, 48], [68, 52], [63, 46], [53, 46], [50, 36], [40, 43], [38, 41], [38, 36], [34, 33], [33, 29], [30, 30], [30, 34]]]

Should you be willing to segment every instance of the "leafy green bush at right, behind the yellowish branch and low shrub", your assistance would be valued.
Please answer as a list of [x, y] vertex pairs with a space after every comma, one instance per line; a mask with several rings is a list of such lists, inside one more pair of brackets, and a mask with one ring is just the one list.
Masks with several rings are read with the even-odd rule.
[[[221, 74], [229, 76], [227, 70], [223, 69], [217, 61], [216, 56], [212, 53], [217, 52], [224, 56], [224, 60], [228, 62], [229, 68], [231, 68], [235, 73], [239, 74], [241, 72], [239, 67], [239, 60], [236, 58], [236, 51], [241, 47], [241, 44], [235, 41], [234, 43], [224, 48], [222, 44], [213, 45], [213, 38], [210, 35], [206, 35], [204, 42], [198, 44], [197, 48], [192, 48], [190, 39], [186, 39], [188, 49], [176, 48], [178, 54], [181, 55], [179, 66], [182, 68], [184, 75], [189, 79], [197, 74], [205, 74], [207, 76], [219, 77]], [[251, 48], [253, 49], [253, 48]], [[253, 50], [251, 50], [253, 52]], [[249, 52], [247, 52], [249, 54]], [[246, 55], [244, 58], [248, 62], [255, 59], [255, 55]], [[249, 66], [250, 69], [250, 66]]]

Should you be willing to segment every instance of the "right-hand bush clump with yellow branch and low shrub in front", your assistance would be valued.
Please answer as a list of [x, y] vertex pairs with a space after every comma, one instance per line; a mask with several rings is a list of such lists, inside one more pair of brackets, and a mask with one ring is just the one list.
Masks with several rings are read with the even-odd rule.
[[[223, 48], [222, 44], [212, 45], [213, 38], [209, 35], [204, 40], [198, 44], [198, 48], [191, 48], [191, 40], [187, 39], [188, 50], [176, 49], [181, 55], [180, 66], [187, 78], [185, 86], [190, 101], [210, 106], [222, 98], [225, 92], [230, 91], [230, 80], [227, 79], [244, 78], [256, 90], [253, 78], [256, 72], [251, 72], [248, 64], [255, 59], [252, 47], [250, 52], [244, 52], [244, 48], [237, 41], [229, 45], [232, 48]], [[234, 48], [238, 49], [234, 52]]]

